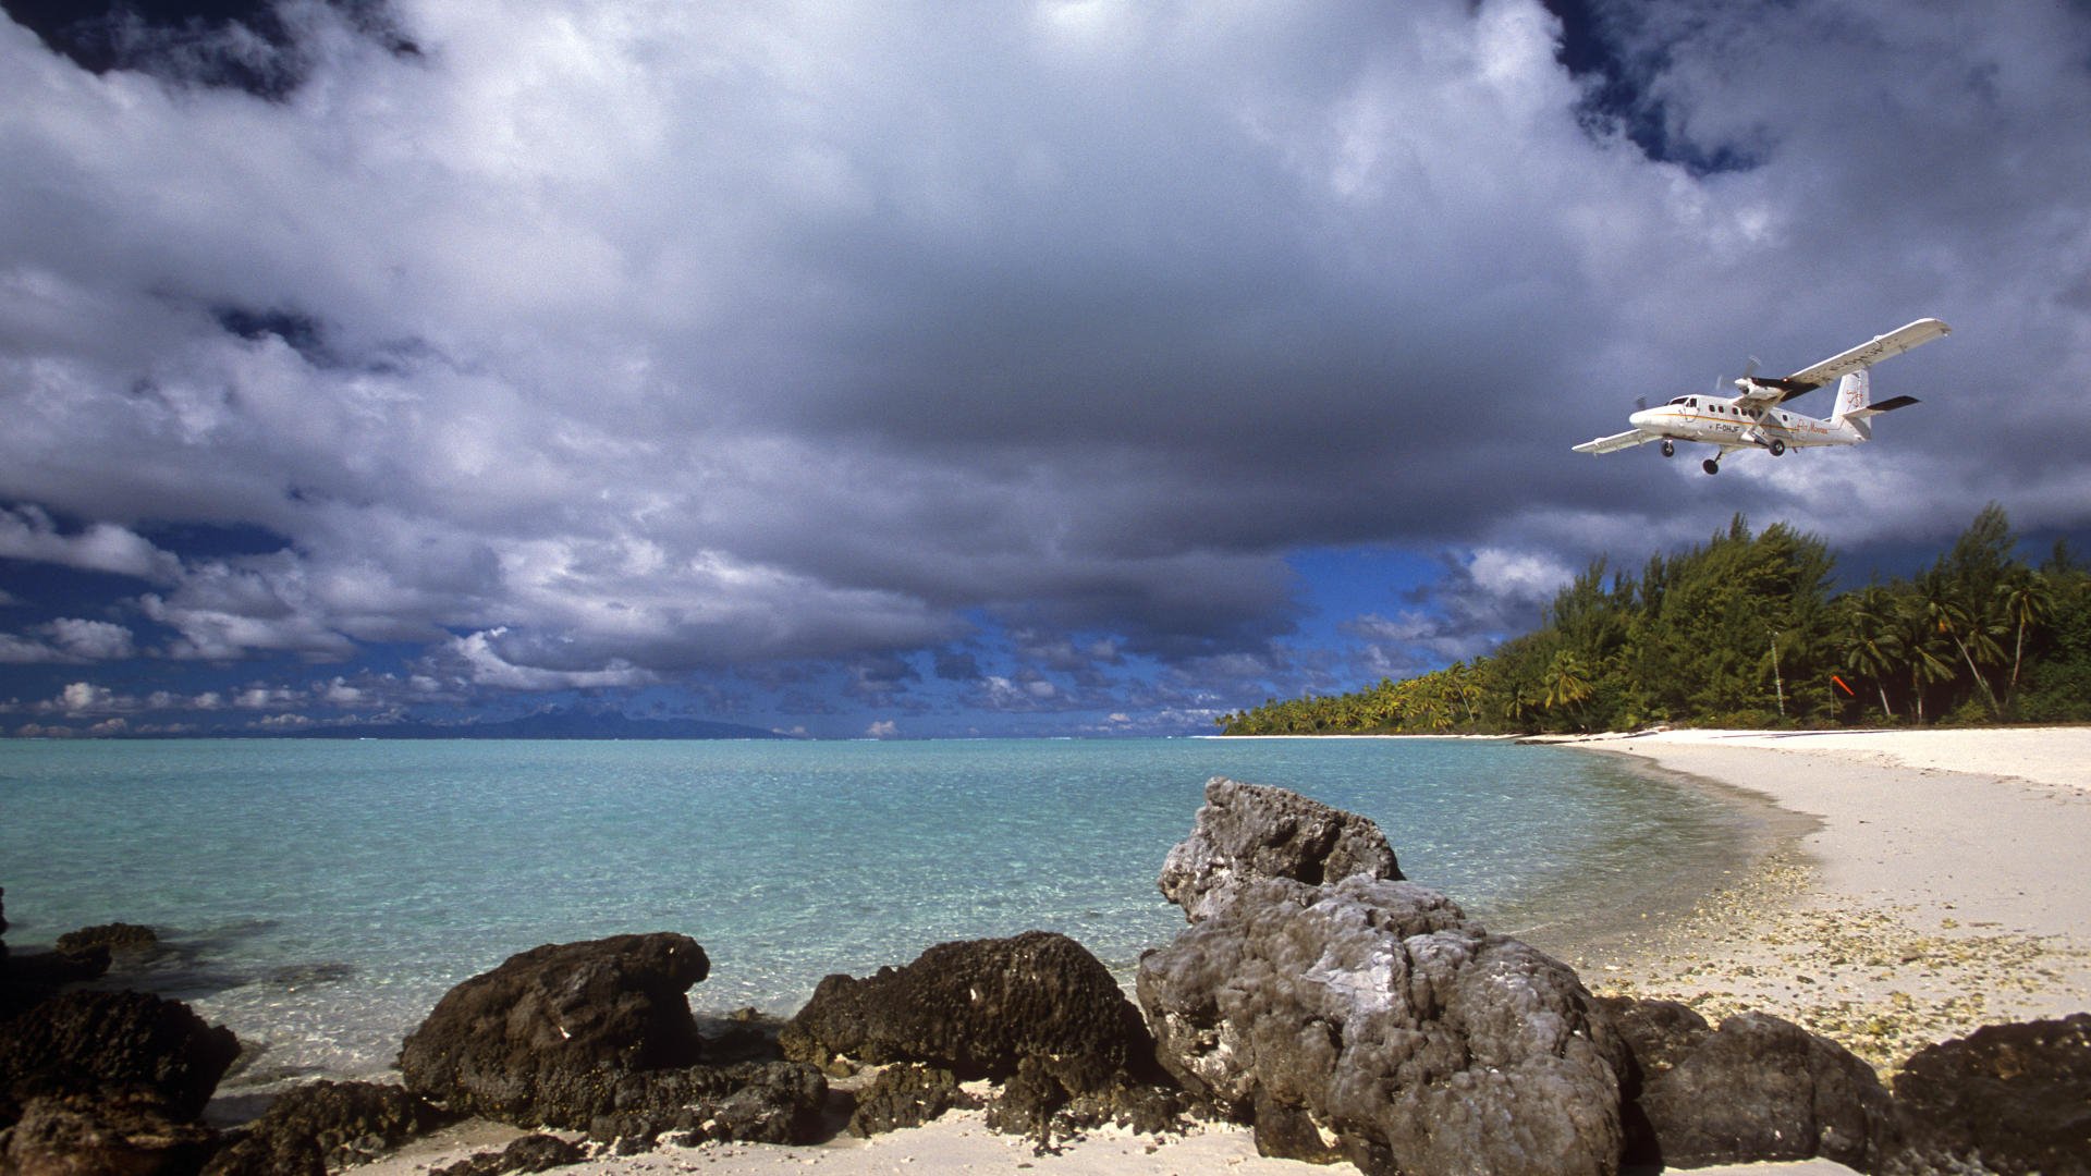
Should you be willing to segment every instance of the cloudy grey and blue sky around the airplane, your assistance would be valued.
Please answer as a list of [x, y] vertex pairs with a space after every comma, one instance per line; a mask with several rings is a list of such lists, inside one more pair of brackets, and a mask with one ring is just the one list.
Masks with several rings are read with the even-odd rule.
[[[0, 6], [0, 734], [1211, 732], [2091, 534], [2085, 4]], [[1869, 446], [1570, 452], [1924, 316]]]

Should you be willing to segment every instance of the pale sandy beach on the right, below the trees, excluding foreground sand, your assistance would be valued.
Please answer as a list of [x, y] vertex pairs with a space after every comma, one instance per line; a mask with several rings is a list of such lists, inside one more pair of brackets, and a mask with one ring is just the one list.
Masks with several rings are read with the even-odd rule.
[[2091, 1009], [2091, 728], [1673, 730], [1564, 743], [1805, 822], [1681, 919], [1572, 963], [1593, 992], [1763, 1009], [1882, 1078], [1984, 1023]]

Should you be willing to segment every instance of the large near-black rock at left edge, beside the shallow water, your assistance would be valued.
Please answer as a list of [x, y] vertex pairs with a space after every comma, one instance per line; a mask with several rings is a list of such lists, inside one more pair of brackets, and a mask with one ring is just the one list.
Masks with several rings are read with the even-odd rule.
[[0, 1092], [157, 1099], [192, 1122], [240, 1042], [180, 1000], [144, 992], [67, 992], [0, 1025]]

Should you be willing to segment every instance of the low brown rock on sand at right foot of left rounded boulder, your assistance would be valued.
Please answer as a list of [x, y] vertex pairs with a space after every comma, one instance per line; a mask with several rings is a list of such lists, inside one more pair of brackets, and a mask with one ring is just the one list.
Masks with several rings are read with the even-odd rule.
[[613, 1109], [588, 1124], [590, 1138], [638, 1151], [669, 1132], [686, 1143], [815, 1143], [824, 1134], [828, 1080], [792, 1061], [692, 1065], [625, 1076]]

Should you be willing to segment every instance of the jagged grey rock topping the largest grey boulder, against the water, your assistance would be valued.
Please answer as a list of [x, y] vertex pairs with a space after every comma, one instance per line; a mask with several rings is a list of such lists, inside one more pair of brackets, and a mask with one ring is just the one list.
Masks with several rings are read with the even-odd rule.
[[1190, 837], [1163, 862], [1161, 889], [1198, 923], [1240, 883], [1322, 885], [1351, 875], [1401, 881], [1378, 824], [1286, 789], [1213, 776]]

